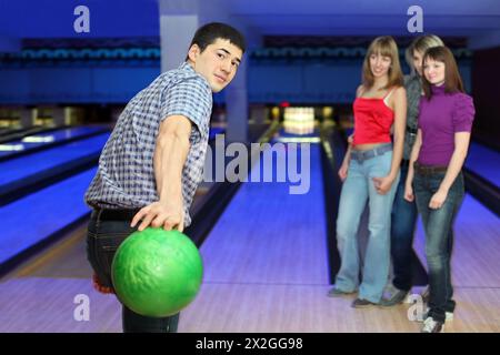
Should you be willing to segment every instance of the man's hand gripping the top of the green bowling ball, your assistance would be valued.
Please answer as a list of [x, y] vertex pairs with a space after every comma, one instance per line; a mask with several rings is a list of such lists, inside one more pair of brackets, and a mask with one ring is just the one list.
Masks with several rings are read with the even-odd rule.
[[130, 226], [134, 227], [141, 221], [138, 230], [143, 231], [148, 226], [162, 227], [166, 231], [172, 229], [182, 232], [184, 230], [184, 211], [182, 202], [153, 202], [141, 209], [132, 219]]

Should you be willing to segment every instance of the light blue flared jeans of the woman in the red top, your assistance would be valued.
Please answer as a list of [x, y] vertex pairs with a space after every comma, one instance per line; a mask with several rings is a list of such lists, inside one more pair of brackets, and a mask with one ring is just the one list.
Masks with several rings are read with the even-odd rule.
[[341, 256], [336, 287], [343, 292], [358, 288], [360, 256], [358, 227], [367, 201], [369, 203], [369, 240], [364, 256], [359, 298], [379, 303], [389, 276], [391, 209], [398, 179], [384, 195], [377, 192], [372, 178], [382, 178], [391, 169], [392, 151], [359, 162], [351, 159], [348, 178], [340, 194], [337, 241]]

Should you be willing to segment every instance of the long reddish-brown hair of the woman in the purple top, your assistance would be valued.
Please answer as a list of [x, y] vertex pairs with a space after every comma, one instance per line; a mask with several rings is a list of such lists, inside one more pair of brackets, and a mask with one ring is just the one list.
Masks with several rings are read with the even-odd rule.
[[[423, 64], [426, 64], [426, 60], [428, 59], [444, 63], [444, 92], [466, 92], [463, 90], [462, 78], [460, 77], [457, 61], [448, 47], [440, 45], [428, 49], [422, 58]], [[422, 89], [426, 98], [430, 100], [432, 98], [431, 83], [427, 80], [424, 74], [422, 75]]]

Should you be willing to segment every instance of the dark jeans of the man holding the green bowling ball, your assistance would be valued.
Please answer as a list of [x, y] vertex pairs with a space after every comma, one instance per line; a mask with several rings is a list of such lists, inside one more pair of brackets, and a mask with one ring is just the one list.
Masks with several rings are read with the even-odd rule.
[[[136, 229], [130, 221], [102, 221], [98, 212], [92, 212], [87, 232], [87, 257], [103, 286], [112, 287], [111, 263], [120, 244]], [[179, 314], [170, 317], [148, 317], [134, 313], [122, 305], [124, 333], [174, 333]]]

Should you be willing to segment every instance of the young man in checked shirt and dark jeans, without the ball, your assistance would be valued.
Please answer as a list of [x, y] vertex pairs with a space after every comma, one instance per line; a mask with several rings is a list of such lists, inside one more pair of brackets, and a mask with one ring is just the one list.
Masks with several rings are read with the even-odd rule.
[[[94, 285], [112, 292], [111, 263], [124, 239], [148, 226], [183, 231], [209, 138], [212, 92], [234, 78], [244, 52], [240, 32], [208, 23], [186, 62], [160, 74], [121, 113], [86, 193], [92, 209], [87, 254]], [[157, 318], [123, 305], [123, 332], [176, 332], [179, 315]]]

